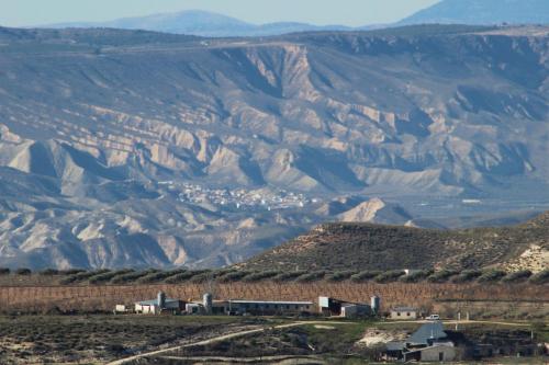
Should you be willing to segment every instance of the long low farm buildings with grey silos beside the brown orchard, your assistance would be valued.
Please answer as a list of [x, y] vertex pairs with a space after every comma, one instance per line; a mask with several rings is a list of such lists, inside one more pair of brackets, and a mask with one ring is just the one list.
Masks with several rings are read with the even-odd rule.
[[186, 301], [166, 297], [163, 292], [156, 299], [137, 301], [132, 306], [117, 305], [115, 313], [135, 312], [143, 315], [187, 313], [187, 315], [229, 315], [229, 316], [274, 316], [274, 315], [312, 315], [345, 318], [366, 317], [378, 313], [380, 298], [374, 296], [371, 304], [356, 304], [329, 297], [320, 297], [318, 304], [312, 301], [284, 300], [213, 300], [211, 294], [204, 294], [202, 301]]

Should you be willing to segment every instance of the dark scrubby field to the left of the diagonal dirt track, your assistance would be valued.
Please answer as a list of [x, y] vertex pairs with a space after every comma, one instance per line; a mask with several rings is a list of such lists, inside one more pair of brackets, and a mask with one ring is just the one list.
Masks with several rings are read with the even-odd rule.
[[105, 364], [147, 352], [264, 324], [235, 317], [0, 317], [0, 364]]

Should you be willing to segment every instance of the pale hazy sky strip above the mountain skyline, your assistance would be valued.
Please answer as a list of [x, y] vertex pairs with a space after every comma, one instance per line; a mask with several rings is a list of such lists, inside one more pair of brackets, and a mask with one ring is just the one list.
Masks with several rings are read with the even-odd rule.
[[251, 23], [389, 23], [439, 0], [0, 0], [0, 24], [30, 26], [200, 9]]

